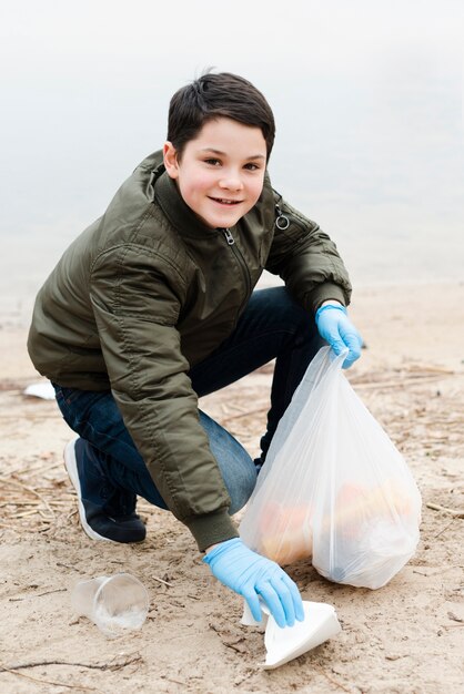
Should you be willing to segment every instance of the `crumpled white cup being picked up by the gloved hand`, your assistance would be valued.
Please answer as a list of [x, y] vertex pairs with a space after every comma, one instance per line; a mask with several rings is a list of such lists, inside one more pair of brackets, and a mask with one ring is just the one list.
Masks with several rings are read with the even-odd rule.
[[293, 626], [280, 627], [268, 606], [260, 600], [263, 612], [262, 623], [256, 622], [248, 603], [244, 603], [242, 624], [245, 626], [265, 626], [264, 645], [266, 650], [264, 670], [273, 670], [289, 661], [315, 649], [342, 631], [335, 609], [325, 602], [303, 600], [304, 620], [295, 621]]

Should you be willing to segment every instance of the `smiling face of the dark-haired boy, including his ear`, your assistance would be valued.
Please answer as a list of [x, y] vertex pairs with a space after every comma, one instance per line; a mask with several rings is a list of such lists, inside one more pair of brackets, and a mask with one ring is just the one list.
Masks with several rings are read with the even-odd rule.
[[164, 164], [200, 220], [212, 228], [226, 228], [250, 212], [261, 195], [266, 144], [260, 127], [219, 118], [203, 125], [180, 159], [167, 142]]

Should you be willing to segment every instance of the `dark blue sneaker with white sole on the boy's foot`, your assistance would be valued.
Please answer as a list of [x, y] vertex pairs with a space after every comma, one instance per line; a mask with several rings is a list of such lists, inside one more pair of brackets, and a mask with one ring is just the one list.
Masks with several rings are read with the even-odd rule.
[[142, 542], [147, 529], [135, 513], [135, 494], [110, 482], [92, 449], [81, 438], [64, 448], [64, 465], [78, 494], [82, 528], [92, 540]]

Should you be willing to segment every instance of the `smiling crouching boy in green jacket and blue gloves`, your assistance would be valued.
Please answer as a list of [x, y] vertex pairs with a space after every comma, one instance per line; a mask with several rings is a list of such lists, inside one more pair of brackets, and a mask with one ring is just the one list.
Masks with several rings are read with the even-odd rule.
[[[242, 78], [209, 73], [180, 89], [163, 152], [135, 169], [41, 288], [28, 347], [79, 435], [64, 457], [85, 532], [142, 541], [142, 496], [188, 525], [256, 620], [261, 595], [284, 626], [303, 619], [299, 590], [241, 542], [231, 514], [322, 338], [350, 348], [347, 367], [361, 337], [335, 245], [271, 187], [274, 132], [268, 102]], [[285, 287], [253, 292], [264, 268]], [[253, 461], [198, 398], [274, 358]]]

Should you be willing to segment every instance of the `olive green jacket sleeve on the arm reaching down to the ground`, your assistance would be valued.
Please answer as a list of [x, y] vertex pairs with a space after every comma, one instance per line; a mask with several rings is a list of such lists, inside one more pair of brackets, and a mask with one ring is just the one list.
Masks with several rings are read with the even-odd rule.
[[90, 285], [111, 389], [154, 484], [200, 550], [236, 537], [175, 327], [185, 278], [155, 251], [124, 244], [97, 258]]

